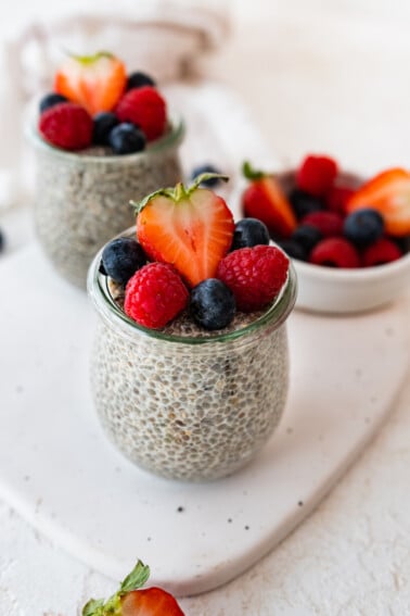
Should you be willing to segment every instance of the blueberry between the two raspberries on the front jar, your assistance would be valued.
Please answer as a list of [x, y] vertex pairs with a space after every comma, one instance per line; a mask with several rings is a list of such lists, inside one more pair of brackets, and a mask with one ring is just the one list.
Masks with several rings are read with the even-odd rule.
[[190, 313], [205, 329], [222, 329], [235, 313], [233, 293], [221, 280], [207, 278], [191, 290]]

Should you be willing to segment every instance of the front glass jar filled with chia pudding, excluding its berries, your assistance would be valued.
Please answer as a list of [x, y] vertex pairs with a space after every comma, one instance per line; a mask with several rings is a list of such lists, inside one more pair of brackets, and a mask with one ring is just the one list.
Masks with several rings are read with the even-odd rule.
[[241, 329], [185, 337], [128, 318], [100, 260], [101, 251], [88, 277], [100, 316], [91, 389], [110, 440], [137, 465], [171, 479], [204, 481], [243, 467], [285, 406], [293, 266], [280, 297]]

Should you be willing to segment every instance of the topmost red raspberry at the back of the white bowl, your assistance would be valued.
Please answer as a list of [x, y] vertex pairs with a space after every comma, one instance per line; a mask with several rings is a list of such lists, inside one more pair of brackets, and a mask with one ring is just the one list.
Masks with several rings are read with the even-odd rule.
[[337, 164], [329, 156], [309, 155], [296, 173], [296, 185], [315, 197], [323, 197], [333, 186], [337, 175]]

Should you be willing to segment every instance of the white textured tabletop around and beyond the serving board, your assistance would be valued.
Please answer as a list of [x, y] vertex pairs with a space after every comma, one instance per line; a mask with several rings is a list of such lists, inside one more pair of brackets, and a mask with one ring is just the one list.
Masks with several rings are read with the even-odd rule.
[[[321, 151], [364, 172], [410, 166], [405, 1], [254, 0], [252, 12], [245, 4], [238, 2], [231, 39], [201, 70], [254, 110], [280, 160]], [[374, 442], [318, 510], [240, 578], [181, 600], [187, 616], [409, 614], [409, 407], [410, 379]], [[89, 596], [114, 590], [3, 502], [0, 528], [2, 615], [79, 614]]]

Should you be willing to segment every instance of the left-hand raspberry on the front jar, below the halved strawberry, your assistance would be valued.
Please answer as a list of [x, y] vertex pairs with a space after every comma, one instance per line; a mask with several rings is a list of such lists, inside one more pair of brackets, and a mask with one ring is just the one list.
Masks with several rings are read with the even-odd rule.
[[188, 304], [189, 292], [172, 265], [149, 263], [128, 280], [124, 310], [140, 325], [158, 329]]

